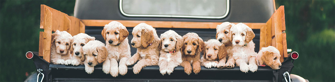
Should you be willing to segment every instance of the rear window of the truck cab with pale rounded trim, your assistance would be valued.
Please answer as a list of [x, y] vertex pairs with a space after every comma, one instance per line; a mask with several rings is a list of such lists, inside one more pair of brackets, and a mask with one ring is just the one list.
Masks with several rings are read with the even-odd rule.
[[120, 0], [120, 10], [132, 17], [224, 18], [229, 0]]

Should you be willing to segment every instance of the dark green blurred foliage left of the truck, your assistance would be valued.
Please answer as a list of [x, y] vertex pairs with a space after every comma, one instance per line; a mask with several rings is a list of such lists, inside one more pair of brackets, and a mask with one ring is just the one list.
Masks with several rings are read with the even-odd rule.
[[38, 51], [41, 4], [73, 15], [75, 1], [0, 1], [0, 81], [24, 81], [36, 70], [27, 51]]

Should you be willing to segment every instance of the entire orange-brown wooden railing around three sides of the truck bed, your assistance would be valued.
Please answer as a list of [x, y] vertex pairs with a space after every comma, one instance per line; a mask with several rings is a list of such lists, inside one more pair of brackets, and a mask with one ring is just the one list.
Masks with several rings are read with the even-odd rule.
[[[41, 5], [41, 25], [39, 56], [50, 62], [52, 31], [67, 31], [72, 36], [85, 32], [85, 26], [104, 27], [111, 21], [118, 21], [125, 27], [135, 27], [146, 23], [154, 28], [192, 28], [216, 29], [222, 22], [176, 22], [176, 21], [133, 21], [133, 20], [80, 20], [58, 10]], [[238, 23], [234, 23], [238, 24]], [[251, 29], [260, 29], [260, 49], [269, 45], [275, 46], [283, 57], [287, 57], [284, 6], [280, 6], [266, 23], [244, 23]]]

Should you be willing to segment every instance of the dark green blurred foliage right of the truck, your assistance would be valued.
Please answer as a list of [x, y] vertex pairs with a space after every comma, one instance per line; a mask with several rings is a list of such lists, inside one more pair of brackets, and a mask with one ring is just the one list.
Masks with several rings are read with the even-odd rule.
[[292, 74], [335, 81], [335, 1], [277, 0], [285, 6], [287, 48], [299, 53]]

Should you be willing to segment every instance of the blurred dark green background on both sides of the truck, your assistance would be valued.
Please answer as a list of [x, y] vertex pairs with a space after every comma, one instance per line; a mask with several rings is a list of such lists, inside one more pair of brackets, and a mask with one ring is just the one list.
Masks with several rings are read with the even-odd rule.
[[[292, 74], [335, 81], [335, 0], [276, 0], [285, 6], [287, 48], [300, 56]], [[24, 54], [38, 51], [40, 5], [73, 16], [74, 0], [0, 0], [0, 81], [24, 81], [36, 72]]]

